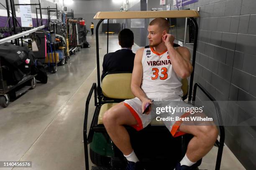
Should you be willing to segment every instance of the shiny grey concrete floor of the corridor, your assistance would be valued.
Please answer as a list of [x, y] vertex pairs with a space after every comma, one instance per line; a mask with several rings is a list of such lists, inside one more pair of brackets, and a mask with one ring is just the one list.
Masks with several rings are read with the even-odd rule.
[[[0, 161], [32, 161], [32, 168], [1, 170], [85, 169], [82, 143], [85, 100], [92, 83], [97, 82], [95, 37], [87, 39], [91, 47], [72, 55], [66, 65], [58, 67], [56, 74], [49, 74], [47, 84], [38, 83], [7, 108], [0, 107]], [[106, 53], [106, 42], [106, 36], [100, 36], [100, 63]], [[138, 48], [134, 45], [133, 51]], [[110, 35], [109, 51], [118, 49], [118, 37]], [[91, 101], [88, 120], [93, 112]], [[213, 170], [216, 155], [214, 147], [203, 158], [200, 169]], [[225, 146], [221, 170], [230, 169], [245, 170]]]

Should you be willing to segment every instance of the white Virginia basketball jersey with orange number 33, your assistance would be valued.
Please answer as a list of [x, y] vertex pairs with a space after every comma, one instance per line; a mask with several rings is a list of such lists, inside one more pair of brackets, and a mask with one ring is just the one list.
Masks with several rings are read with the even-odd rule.
[[181, 100], [182, 79], [174, 72], [170, 57], [167, 50], [159, 54], [153, 47], [144, 49], [141, 89], [152, 100]]

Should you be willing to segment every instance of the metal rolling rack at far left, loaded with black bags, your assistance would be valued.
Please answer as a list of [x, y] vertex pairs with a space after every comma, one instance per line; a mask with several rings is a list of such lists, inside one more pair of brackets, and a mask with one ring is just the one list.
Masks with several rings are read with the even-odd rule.
[[[27, 38], [26, 36], [28, 34], [36, 32], [37, 30], [43, 29], [44, 25], [42, 24], [42, 20], [41, 20], [40, 27], [37, 27], [37, 28], [22, 27], [16, 18], [15, 6], [19, 6], [19, 5], [39, 6], [40, 17], [42, 18], [40, 0], [38, 0], [38, 3], [32, 3], [32, 4], [15, 4], [14, 0], [10, 0], [10, 7], [9, 7], [9, 0], [5, 0], [5, 3], [6, 3], [6, 7], [3, 4], [1, 5], [7, 10], [8, 18], [7, 18], [5, 27], [0, 28], [0, 32], [3, 32], [6, 35], [6, 37], [3, 39], [0, 39], [0, 44], [11, 41], [12, 44], [15, 44], [17, 46], [21, 45], [23, 47], [23, 40]], [[10, 14], [12, 15], [11, 17], [12, 17], [13, 25], [11, 25]], [[29, 88], [32, 88], [32, 89], [35, 88], [36, 87], [35, 77], [36, 75], [26, 75], [17, 84], [7, 85], [7, 82], [3, 79], [3, 69], [1, 66], [1, 58], [0, 58], [0, 105], [2, 107], [7, 107], [10, 102], [10, 96], [14, 96], [14, 95], [18, 96], [23, 94]], [[25, 86], [20, 88], [23, 84], [28, 83], [29, 81], [30, 81], [30, 86]]]

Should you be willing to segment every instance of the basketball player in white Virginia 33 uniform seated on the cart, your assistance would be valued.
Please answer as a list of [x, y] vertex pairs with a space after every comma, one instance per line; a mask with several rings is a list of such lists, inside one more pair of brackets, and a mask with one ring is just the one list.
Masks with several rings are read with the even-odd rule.
[[[130, 143], [130, 137], [123, 125], [136, 130], [145, 128], [151, 122], [150, 110], [142, 114], [145, 106], [157, 101], [181, 101], [181, 80], [190, 76], [193, 68], [190, 52], [186, 47], [175, 47], [174, 36], [169, 34], [169, 23], [164, 18], [156, 18], [148, 26], [149, 46], [136, 52], [131, 80], [131, 90], [135, 98], [118, 103], [107, 110], [103, 124], [111, 140], [128, 160], [126, 170], [143, 170]], [[184, 102], [186, 107], [188, 104]], [[175, 107], [175, 106], [173, 106]], [[174, 113], [184, 117], [187, 113]], [[215, 125], [195, 126], [182, 122], [165, 122], [174, 137], [184, 133], [194, 137], [187, 146], [184, 158], [175, 170], [190, 170], [192, 165], [206, 155], [214, 145], [218, 130]]]

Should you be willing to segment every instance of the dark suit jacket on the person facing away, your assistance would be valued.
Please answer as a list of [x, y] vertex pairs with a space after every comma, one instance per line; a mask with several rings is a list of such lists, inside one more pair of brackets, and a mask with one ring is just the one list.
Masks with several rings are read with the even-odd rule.
[[102, 77], [106, 72], [132, 72], [135, 54], [132, 50], [121, 49], [116, 52], [105, 54], [103, 58]]

